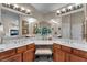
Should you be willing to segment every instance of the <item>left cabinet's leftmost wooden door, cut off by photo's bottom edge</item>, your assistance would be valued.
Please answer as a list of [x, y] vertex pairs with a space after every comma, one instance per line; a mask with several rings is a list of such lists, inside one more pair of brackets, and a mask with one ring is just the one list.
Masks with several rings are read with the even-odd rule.
[[21, 54], [17, 54], [17, 55], [13, 55], [13, 56], [9, 56], [4, 59], [1, 59], [1, 62], [21, 62], [21, 61], [22, 61]]

